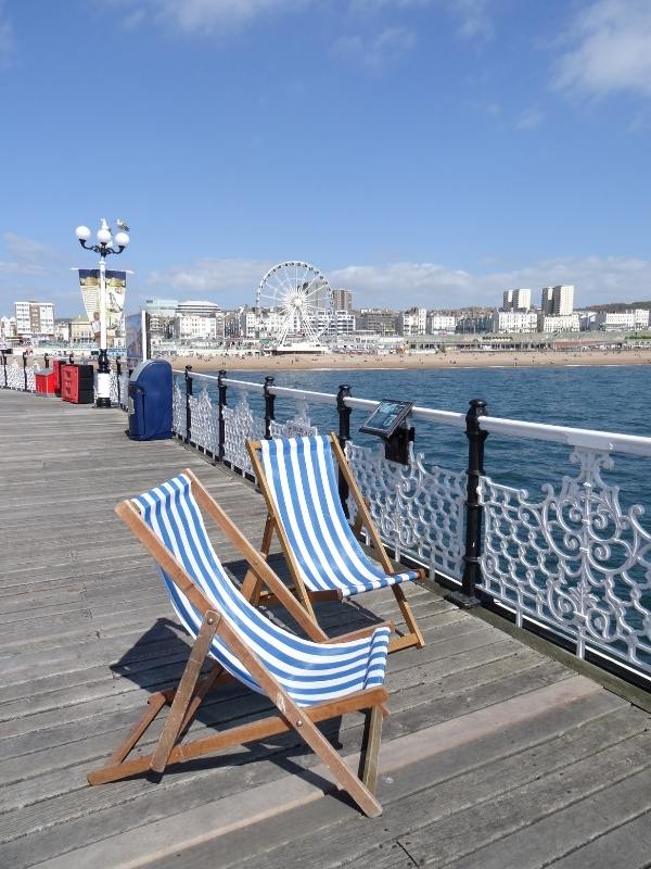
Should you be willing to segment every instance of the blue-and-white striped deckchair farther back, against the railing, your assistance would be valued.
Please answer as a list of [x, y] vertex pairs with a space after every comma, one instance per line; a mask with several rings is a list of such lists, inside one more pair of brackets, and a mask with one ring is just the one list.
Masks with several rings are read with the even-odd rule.
[[[292, 574], [294, 589], [310, 617], [312, 601], [342, 600], [391, 587], [408, 633], [396, 637], [388, 651], [424, 645], [411, 607], [399, 583], [422, 578], [422, 570], [394, 572], [359, 486], [335, 434], [275, 438], [246, 444], [267, 503], [261, 552], [266, 556], [278, 534]], [[336, 465], [335, 465], [336, 463]], [[357, 505], [355, 531], [366, 527], [380, 564], [369, 558], [344, 514], [336, 467]], [[252, 571], [242, 593], [253, 603], [261, 585]]]

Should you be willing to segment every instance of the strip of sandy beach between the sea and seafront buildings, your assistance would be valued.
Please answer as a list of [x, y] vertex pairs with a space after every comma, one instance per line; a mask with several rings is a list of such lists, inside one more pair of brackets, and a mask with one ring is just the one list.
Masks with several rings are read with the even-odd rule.
[[344, 354], [332, 353], [314, 356], [174, 356], [169, 360], [175, 368], [191, 365], [196, 371], [226, 370], [324, 370], [358, 368], [495, 368], [576, 365], [649, 365], [649, 350], [585, 350], [585, 351], [533, 351], [533, 352], [463, 352], [413, 354]]

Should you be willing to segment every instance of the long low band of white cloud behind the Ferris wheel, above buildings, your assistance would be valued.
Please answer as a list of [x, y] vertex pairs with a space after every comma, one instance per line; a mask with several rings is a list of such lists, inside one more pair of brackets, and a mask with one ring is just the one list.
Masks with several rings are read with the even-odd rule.
[[[254, 304], [260, 278], [271, 265], [259, 260], [200, 260], [153, 272], [148, 284], [162, 295], [208, 295], [225, 305]], [[523, 268], [474, 274], [427, 262], [347, 265], [326, 274], [332, 287], [354, 291], [357, 306], [497, 305], [510, 287], [531, 287], [537, 292], [556, 284], [574, 284], [579, 305], [651, 299], [651, 261], [623, 256], [557, 257]]]

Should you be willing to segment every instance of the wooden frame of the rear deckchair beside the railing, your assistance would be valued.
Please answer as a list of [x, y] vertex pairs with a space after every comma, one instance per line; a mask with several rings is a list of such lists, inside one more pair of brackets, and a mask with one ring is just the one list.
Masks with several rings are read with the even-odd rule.
[[[375, 527], [375, 522], [373, 521], [371, 514], [369, 512], [368, 504], [363, 495], [361, 494], [359, 484], [355, 479], [355, 475], [350, 470], [350, 466], [348, 465], [344, 451], [340, 445], [339, 438], [336, 437], [336, 434], [334, 434], [334, 432], [331, 432], [328, 436], [328, 439], [330, 441], [330, 446], [336, 459], [339, 469], [344, 480], [346, 481], [348, 486], [348, 491], [353, 495], [353, 499], [357, 506], [357, 517], [353, 530], [357, 537], [361, 537], [361, 530], [363, 528], [367, 529], [371, 544], [373, 546], [374, 552], [376, 553], [378, 561], [382, 565], [384, 572], [390, 576], [396, 576], [391, 559], [386, 554], [386, 550], [384, 549], [384, 544], [380, 539], [380, 534], [378, 532], [378, 528]], [[248, 455], [251, 457], [251, 463], [253, 465], [255, 476], [257, 477], [260, 491], [265, 498], [265, 503], [267, 505], [267, 520], [265, 522], [265, 530], [263, 533], [260, 553], [263, 554], [264, 557], [267, 557], [269, 555], [271, 549], [271, 541], [273, 540], [273, 533], [276, 532], [278, 539], [280, 540], [280, 544], [282, 546], [288, 566], [290, 568], [290, 574], [292, 575], [292, 581], [294, 582], [294, 591], [296, 593], [296, 596], [299, 599], [306, 612], [309, 614], [309, 617], [314, 619], [315, 624], [318, 624], [312, 602], [322, 600], [337, 600], [337, 599], [341, 601], [343, 595], [341, 593], [337, 593], [336, 591], [324, 591], [324, 592], [311, 591], [305, 585], [305, 582], [303, 581], [303, 578], [301, 576], [298, 564], [292, 551], [292, 546], [290, 544], [288, 534], [285, 532], [285, 529], [281, 520], [278, 517], [278, 512], [276, 509], [271, 492], [269, 491], [269, 486], [267, 483], [265, 469], [263, 467], [263, 463], [260, 461], [260, 455], [259, 455], [260, 441], [246, 441], [246, 449], [248, 451]], [[419, 569], [417, 572], [420, 579], [424, 579], [425, 571], [423, 569]], [[388, 651], [398, 652], [400, 648], [409, 648], [411, 646], [416, 646], [417, 648], [422, 648], [423, 645], [425, 644], [425, 641], [416, 620], [416, 616], [413, 615], [413, 612], [407, 601], [407, 597], [405, 596], [405, 592], [397, 583], [391, 585], [391, 589], [398, 603], [398, 606], [403, 614], [403, 618], [405, 619], [405, 624], [407, 625], [408, 633], [405, 633], [401, 637], [395, 637], [388, 644]], [[244, 582], [242, 583], [242, 594], [244, 594], [244, 596], [247, 600], [250, 600], [254, 605], [257, 605], [260, 600], [264, 600], [265, 603], [272, 603], [272, 601], [269, 600], [269, 596], [264, 594], [263, 582], [260, 581], [259, 577], [255, 575], [253, 570], [250, 570], [244, 578]]]

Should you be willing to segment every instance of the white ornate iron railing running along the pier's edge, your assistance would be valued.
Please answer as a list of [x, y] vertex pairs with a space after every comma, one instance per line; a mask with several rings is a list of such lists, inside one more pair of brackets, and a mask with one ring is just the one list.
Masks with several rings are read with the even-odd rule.
[[[501, 419], [480, 401], [467, 415], [414, 406], [409, 421], [464, 429], [469, 461], [459, 473], [427, 463], [411, 444], [397, 464], [381, 445], [353, 443], [350, 412], [370, 414], [378, 402], [348, 388], [333, 394], [278, 387], [273, 378], [177, 374], [186, 377], [186, 388], [177, 379], [174, 390], [177, 436], [251, 476], [246, 440], [316, 433], [309, 406], [336, 410], [340, 440], [396, 558], [430, 567], [463, 606], [507, 610], [579, 657], [651, 679], [651, 534], [640, 524], [643, 507], [623, 507], [618, 488], [602, 477], [613, 454], [651, 457], [651, 438]], [[293, 403], [282, 420], [277, 400]], [[539, 498], [506, 486], [483, 469], [489, 433], [565, 444], [578, 470], [545, 484]]]

